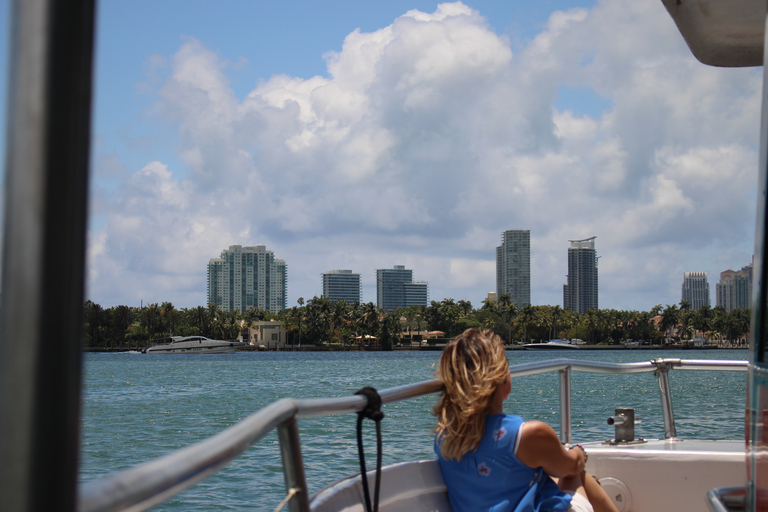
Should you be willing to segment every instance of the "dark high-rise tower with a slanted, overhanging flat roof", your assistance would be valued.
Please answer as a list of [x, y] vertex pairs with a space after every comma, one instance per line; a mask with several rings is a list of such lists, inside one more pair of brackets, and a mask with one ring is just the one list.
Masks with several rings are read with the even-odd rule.
[[563, 308], [577, 313], [597, 309], [597, 253], [595, 236], [569, 240], [568, 277], [563, 285]]

